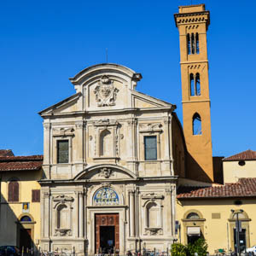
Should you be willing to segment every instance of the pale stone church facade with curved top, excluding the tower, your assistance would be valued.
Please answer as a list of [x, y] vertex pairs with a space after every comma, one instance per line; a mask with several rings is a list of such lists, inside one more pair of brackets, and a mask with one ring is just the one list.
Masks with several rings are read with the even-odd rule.
[[[40, 113], [43, 250], [96, 253], [96, 216], [103, 216], [97, 214], [118, 216], [114, 232], [120, 254], [143, 247], [163, 251], [172, 244], [176, 107], [138, 92], [141, 78], [116, 64], [86, 68], [70, 79], [75, 95]], [[156, 139], [154, 160], [145, 160], [144, 137]], [[58, 163], [61, 140], [68, 143], [67, 163]]]

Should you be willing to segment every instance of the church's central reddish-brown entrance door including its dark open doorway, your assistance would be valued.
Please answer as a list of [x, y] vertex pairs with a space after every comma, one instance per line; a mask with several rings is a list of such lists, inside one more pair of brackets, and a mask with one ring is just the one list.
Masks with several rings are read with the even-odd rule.
[[119, 250], [119, 213], [96, 214], [95, 230], [95, 253]]

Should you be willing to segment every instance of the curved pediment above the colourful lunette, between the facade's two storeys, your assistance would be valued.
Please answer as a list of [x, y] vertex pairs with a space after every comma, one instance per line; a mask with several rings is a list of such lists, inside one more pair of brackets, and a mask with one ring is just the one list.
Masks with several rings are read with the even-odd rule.
[[90, 180], [123, 180], [137, 179], [137, 176], [123, 166], [116, 165], [97, 165], [90, 166], [80, 172], [74, 180], [90, 179]]

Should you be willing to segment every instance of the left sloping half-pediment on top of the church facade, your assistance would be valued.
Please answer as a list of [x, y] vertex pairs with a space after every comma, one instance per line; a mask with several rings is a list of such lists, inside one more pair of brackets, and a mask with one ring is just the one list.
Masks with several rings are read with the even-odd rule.
[[50, 106], [49, 108], [45, 108], [44, 110], [40, 111], [39, 114], [47, 115], [51, 113], [71, 113], [71, 112], [78, 111], [79, 109], [77, 109], [78, 108], [77, 102], [81, 95], [82, 94], [79, 92], [74, 94], [73, 96], [69, 96], [65, 100], [58, 102]]

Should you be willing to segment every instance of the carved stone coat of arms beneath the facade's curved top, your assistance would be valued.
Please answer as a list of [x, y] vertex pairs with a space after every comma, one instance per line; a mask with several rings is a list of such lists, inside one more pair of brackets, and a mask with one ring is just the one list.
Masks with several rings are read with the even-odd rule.
[[94, 90], [98, 106], [114, 106], [118, 92], [119, 90], [113, 86], [113, 81], [108, 79], [106, 75], [102, 76], [102, 79], [98, 82]]

